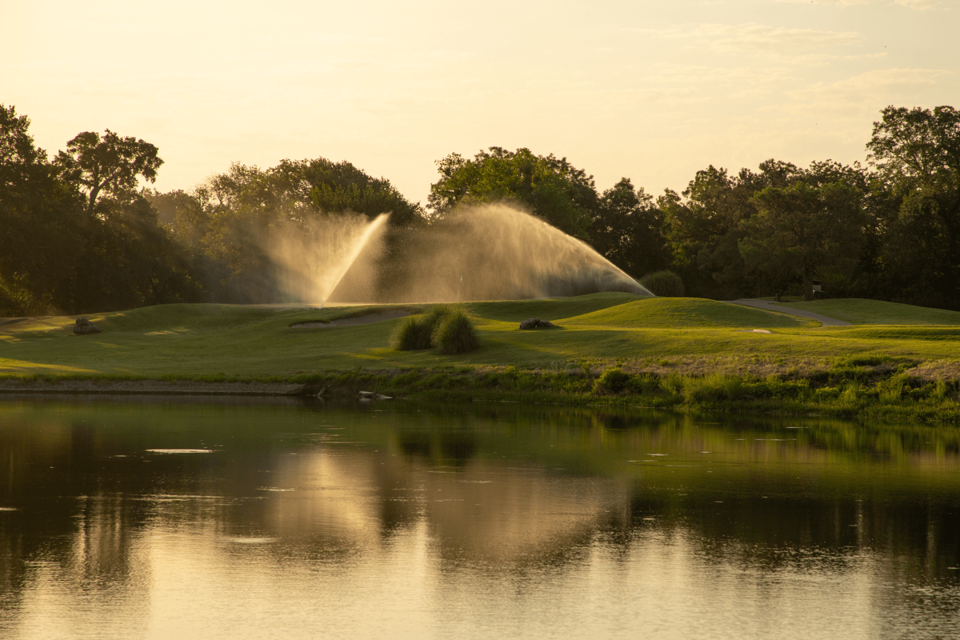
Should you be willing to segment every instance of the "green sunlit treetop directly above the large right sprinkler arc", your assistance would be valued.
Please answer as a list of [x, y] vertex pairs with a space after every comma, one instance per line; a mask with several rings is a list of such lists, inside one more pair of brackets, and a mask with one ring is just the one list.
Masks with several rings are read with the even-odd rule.
[[491, 147], [473, 159], [449, 154], [437, 167], [441, 178], [430, 185], [427, 199], [434, 217], [461, 203], [514, 201], [570, 235], [589, 237], [597, 207], [593, 177], [565, 157]]

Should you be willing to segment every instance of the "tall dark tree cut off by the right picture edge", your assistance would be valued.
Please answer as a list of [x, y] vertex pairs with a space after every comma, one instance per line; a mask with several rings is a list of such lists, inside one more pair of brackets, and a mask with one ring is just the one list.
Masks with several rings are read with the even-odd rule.
[[886, 107], [867, 149], [890, 297], [960, 307], [960, 111]]

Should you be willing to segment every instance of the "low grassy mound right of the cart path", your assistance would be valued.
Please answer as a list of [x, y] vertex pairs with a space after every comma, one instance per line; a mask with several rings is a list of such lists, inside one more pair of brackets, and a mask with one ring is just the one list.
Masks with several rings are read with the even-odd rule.
[[[917, 307], [912, 304], [867, 300], [860, 297], [785, 302], [775, 307], [799, 309], [844, 320], [851, 324], [946, 324], [960, 325], [960, 312]], [[785, 309], [786, 310], [786, 309]]]

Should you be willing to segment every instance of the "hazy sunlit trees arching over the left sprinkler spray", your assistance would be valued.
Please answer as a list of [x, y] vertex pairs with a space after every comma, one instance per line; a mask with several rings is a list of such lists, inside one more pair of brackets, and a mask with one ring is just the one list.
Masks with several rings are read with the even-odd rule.
[[264, 242], [281, 227], [306, 229], [311, 221], [344, 212], [369, 219], [389, 212], [395, 229], [422, 219], [420, 206], [389, 180], [325, 158], [286, 159], [270, 169], [233, 163], [190, 191], [154, 192], [149, 198], [174, 237], [193, 252], [208, 295], [230, 302], [282, 296]]

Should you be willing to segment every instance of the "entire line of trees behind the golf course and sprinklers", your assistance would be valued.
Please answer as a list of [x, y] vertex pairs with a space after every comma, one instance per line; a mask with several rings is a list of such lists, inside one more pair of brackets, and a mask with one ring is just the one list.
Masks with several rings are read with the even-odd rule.
[[[712, 165], [654, 197], [629, 178], [599, 191], [566, 158], [492, 147], [437, 161], [426, 205], [347, 161], [234, 163], [161, 193], [144, 140], [85, 131], [53, 157], [0, 106], [0, 315], [81, 314], [285, 296], [263, 238], [344, 212], [392, 212], [386, 257], [465, 204], [516, 202], [636, 278], [669, 270], [686, 295], [858, 296], [960, 309], [960, 112], [887, 107], [864, 165]], [[411, 245], [412, 246], [412, 245]], [[402, 273], [402, 269], [385, 269]]]

